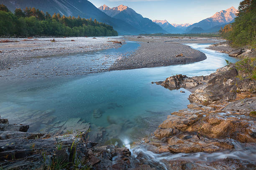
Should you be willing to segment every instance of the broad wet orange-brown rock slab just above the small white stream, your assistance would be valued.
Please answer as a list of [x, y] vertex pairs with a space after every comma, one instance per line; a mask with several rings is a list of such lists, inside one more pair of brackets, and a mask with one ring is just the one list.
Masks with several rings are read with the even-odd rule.
[[173, 131], [170, 128], [177, 128], [183, 132], [198, 132], [207, 138], [232, 138], [242, 143], [256, 142], [256, 120], [249, 116], [250, 112], [224, 111], [229, 108], [228, 105], [220, 111], [195, 104], [190, 107], [193, 109], [179, 110], [169, 115], [156, 129], [155, 136], [159, 139], [171, 137]]

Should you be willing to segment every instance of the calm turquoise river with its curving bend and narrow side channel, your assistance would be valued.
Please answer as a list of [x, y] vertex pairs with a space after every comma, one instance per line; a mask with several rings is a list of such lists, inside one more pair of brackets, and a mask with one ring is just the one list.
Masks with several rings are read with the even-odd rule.
[[[139, 44], [127, 42], [118, 53], [136, 50]], [[225, 53], [207, 50], [207, 44], [189, 44], [205, 53], [207, 59], [184, 65], [121, 70], [44, 80], [1, 80], [0, 115], [10, 123], [28, 123], [30, 132], [54, 132], [61, 126], [72, 130], [74, 124], [88, 125], [101, 140], [134, 140], [154, 132], [171, 112], [186, 108], [190, 92], [168, 90], [152, 81], [183, 74], [209, 75], [236, 62]], [[87, 57], [116, 55], [116, 50], [77, 54]], [[73, 56], [73, 55], [72, 55]], [[66, 55], [59, 57], [67, 61]], [[40, 59], [47, 60], [44, 58]], [[87, 124], [86, 124], [87, 123]], [[73, 124], [73, 126], [72, 126]], [[69, 125], [71, 129], [69, 129]], [[93, 135], [92, 135], [93, 136]], [[97, 138], [95, 137], [95, 138]]]

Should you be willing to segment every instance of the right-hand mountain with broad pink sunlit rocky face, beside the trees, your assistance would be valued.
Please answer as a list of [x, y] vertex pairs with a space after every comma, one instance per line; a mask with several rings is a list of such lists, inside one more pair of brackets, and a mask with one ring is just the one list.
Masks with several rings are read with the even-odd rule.
[[190, 25], [186, 32], [189, 32], [195, 27], [200, 27], [203, 30], [209, 30], [218, 25], [228, 24], [232, 20], [236, 18], [237, 9], [234, 7], [230, 7], [227, 10], [221, 10], [220, 12], [215, 13], [210, 18], [206, 18], [205, 20], [200, 21], [199, 23], [195, 23]]

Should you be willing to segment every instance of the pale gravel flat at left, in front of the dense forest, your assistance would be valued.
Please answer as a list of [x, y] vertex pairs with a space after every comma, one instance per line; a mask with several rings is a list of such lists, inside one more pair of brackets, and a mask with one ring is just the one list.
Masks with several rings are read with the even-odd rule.
[[0, 43], [0, 70], [31, 62], [31, 57], [89, 52], [120, 47], [108, 37], [11, 38]]

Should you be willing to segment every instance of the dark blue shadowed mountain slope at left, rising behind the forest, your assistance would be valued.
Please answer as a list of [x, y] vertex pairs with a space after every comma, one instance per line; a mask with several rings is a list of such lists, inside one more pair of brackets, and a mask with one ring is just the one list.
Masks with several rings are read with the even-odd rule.
[[61, 15], [74, 16], [82, 18], [92, 18], [100, 22], [112, 25], [119, 34], [138, 34], [141, 30], [134, 28], [132, 25], [111, 18], [88, 0], [0, 0], [0, 4], [6, 5], [11, 11], [15, 8], [25, 9], [26, 7], [35, 7], [51, 15], [60, 13]]

